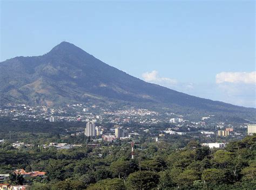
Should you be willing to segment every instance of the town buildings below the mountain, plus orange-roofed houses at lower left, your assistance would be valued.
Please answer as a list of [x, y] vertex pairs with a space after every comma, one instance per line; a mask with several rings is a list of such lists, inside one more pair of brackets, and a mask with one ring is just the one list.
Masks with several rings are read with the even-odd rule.
[[[148, 148], [145, 145], [145, 139], [154, 143], [171, 143], [176, 142], [175, 139], [183, 142], [190, 139], [198, 140], [200, 146], [206, 146], [209, 149], [225, 149], [229, 142], [241, 140], [247, 135], [256, 133], [255, 124], [214, 122], [214, 115], [205, 115], [198, 121], [189, 121], [183, 115], [172, 112], [159, 113], [135, 108], [114, 111], [85, 104], [69, 104], [64, 108], [5, 104], [0, 109], [0, 117], [8, 118], [14, 123], [31, 123], [35, 129], [42, 123], [45, 126], [52, 125], [53, 128], [55, 125], [72, 125], [72, 127], [60, 128], [62, 131], [59, 131], [58, 138], [45, 138], [41, 143], [36, 144], [35, 140], [28, 140], [26, 135], [15, 136], [17, 131], [9, 128], [9, 131], [0, 133], [2, 135], [0, 145], [11, 143], [12, 149], [19, 151], [35, 148], [45, 151], [86, 148], [86, 150], [96, 151], [97, 153], [92, 155], [97, 158], [103, 158], [106, 147], [117, 146], [130, 152], [130, 158], [134, 159], [137, 157], [138, 150]], [[50, 139], [57, 140], [50, 142]], [[176, 150], [183, 150], [185, 146], [186, 144], [181, 143], [175, 147]], [[29, 189], [31, 181], [48, 179], [46, 171], [14, 169], [9, 173], [0, 173], [1, 190]], [[15, 186], [8, 183], [19, 175], [24, 178], [23, 185]]]

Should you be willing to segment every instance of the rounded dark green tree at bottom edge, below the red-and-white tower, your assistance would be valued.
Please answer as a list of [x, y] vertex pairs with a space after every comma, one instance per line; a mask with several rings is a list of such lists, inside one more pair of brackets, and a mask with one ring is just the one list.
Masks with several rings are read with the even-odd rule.
[[157, 187], [159, 175], [151, 171], [138, 171], [131, 173], [127, 178], [127, 187], [129, 189], [152, 189]]

